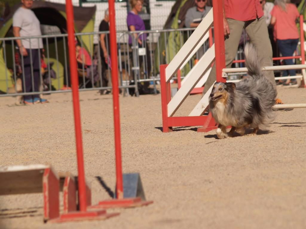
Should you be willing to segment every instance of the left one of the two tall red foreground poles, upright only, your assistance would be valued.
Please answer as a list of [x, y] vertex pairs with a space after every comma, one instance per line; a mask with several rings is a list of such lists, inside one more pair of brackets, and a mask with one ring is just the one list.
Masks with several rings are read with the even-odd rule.
[[86, 211], [86, 185], [84, 173], [84, 159], [83, 159], [83, 144], [81, 132], [81, 117], [80, 117], [80, 100], [79, 100], [79, 80], [77, 76], [76, 65], [76, 49], [74, 47], [74, 16], [73, 6], [71, 0], [66, 0], [66, 14], [67, 14], [67, 31], [68, 31], [68, 45], [69, 45], [69, 64], [70, 64], [70, 77], [72, 87], [73, 99], [73, 113], [74, 113], [74, 126], [76, 135], [76, 156], [78, 167], [78, 188], [79, 188], [79, 205], [80, 211]]

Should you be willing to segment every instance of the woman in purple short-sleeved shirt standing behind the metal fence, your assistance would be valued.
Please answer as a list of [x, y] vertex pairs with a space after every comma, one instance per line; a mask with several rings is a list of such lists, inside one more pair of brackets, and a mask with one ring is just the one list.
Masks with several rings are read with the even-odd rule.
[[[128, 30], [129, 31], [146, 30], [144, 26], [144, 21], [141, 19], [141, 17], [138, 14], [141, 12], [141, 9], [143, 6], [143, 0], [130, 0], [130, 4], [131, 4], [132, 10], [128, 13], [128, 16], [126, 18]], [[133, 35], [135, 39], [137, 39], [138, 34], [134, 33]], [[146, 66], [144, 68], [144, 71], [146, 69], [147, 72], [145, 72], [145, 74], [149, 76], [151, 73], [151, 52], [149, 50], [149, 46], [147, 45], [146, 39], [147, 39], [147, 34], [140, 35], [138, 38], [138, 46], [146, 48], [146, 63], [145, 63]], [[132, 45], [131, 36], [129, 36], [129, 45], [130, 46]], [[139, 56], [139, 67], [142, 67], [142, 66], [143, 66], [143, 58], [142, 56]]]

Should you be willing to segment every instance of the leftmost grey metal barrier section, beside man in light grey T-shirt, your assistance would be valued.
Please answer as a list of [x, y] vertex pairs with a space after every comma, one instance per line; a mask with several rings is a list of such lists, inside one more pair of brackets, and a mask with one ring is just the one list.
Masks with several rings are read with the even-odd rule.
[[[76, 34], [76, 44], [74, 45], [76, 45], [79, 53], [80, 90], [111, 89], [111, 84], [107, 85], [107, 76], [103, 77], [103, 74], [107, 73], [107, 69], [102, 69], [101, 66], [100, 44], [97, 45], [97, 51], [95, 52], [92, 43], [93, 36], [99, 36], [102, 33]], [[105, 33], [107, 34], [107, 32]], [[39, 43], [41, 40], [43, 49], [31, 49], [33, 52], [29, 52], [30, 49], [27, 49], [28, 55], [23, 55], [17, 48], [17, 39], [28, 41], [30, 49], [33, 41]], [[0, 64], [5, 69], [3, 71], [4, 76], [0, 79], [0, 90], [2, 92], [0, 96], [59, 93], [63, 92], [63, 89], [69, 89], [67, 34], [0, 38], [0, 50]], [[108, 75], [110, 77], [110, 71], [108, 71]], [[28, 85], [27, 82], [32, 85]], [[39, 85], [36, 85], [37, 82], [39, 82]], [[30, 87], [32, 92], [22, 92], [22, 89], [26, 87]], [[120, 86], [120, 88], [125, 89], [131, 87], [135, 88], [135, 85]]]

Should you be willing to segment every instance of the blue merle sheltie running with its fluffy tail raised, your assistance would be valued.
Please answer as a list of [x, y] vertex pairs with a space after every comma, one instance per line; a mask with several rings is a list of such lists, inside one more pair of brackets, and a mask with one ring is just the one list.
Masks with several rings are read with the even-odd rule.
[[[245, 128], [264, 129], [275, 118], [273, 105], [277, 92], [275, 86], [261, 71], [254, 45], [248, 43], [244, 49], [248, 77], [240, 82], [216, 82], [209, 96], [212, 116], [219, 124], [219, 139], [233, 136], [236, 131], [244, 135]], [[226, 133], [226, 126], [232, 126]]]

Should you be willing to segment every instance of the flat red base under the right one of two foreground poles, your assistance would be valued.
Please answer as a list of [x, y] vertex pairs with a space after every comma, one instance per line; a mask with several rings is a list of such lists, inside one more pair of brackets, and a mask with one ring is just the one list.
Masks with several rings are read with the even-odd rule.
[[133, 208], [133, 207], [140, 207], [146, 206], [153, 203], [153, 201], [142, 201], [140, 197], [137, 198], [125, 198], [125, 199], [112, 199], [112, 200], [105, 200], [99, 202], [98, 205], [93, 205], [88, 208], [95, 209], [95, 208]]

